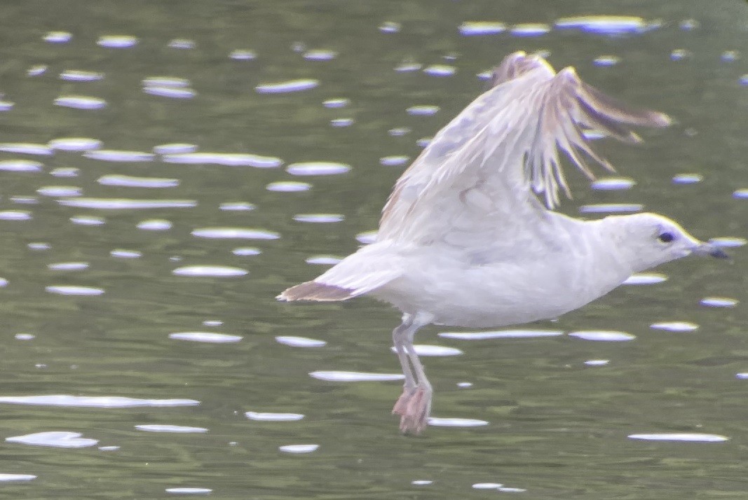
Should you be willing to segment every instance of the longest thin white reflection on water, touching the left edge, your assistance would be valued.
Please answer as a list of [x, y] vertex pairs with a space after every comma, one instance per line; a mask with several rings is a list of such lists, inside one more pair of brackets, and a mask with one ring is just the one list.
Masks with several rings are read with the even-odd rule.
[[121, 396], [73, 396], [67, 394], [40, 396], [0, 396], [0, 404], [79, 408], [192, 407], [194, 399], [140, 399]]

